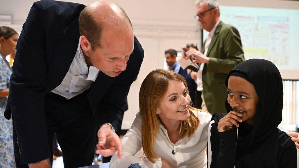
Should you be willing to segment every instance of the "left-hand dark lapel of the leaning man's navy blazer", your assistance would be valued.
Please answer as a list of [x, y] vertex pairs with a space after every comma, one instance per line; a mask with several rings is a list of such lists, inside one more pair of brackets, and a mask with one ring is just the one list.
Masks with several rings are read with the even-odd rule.
[[74, 60], [79, 43], [79, 22], [78, 18], [64, 29], [64, 39], [57, 41], [55, 52], [51, 61], [48, 72], [48, 86], [49, 91], [61, 84], [71, 63]]

